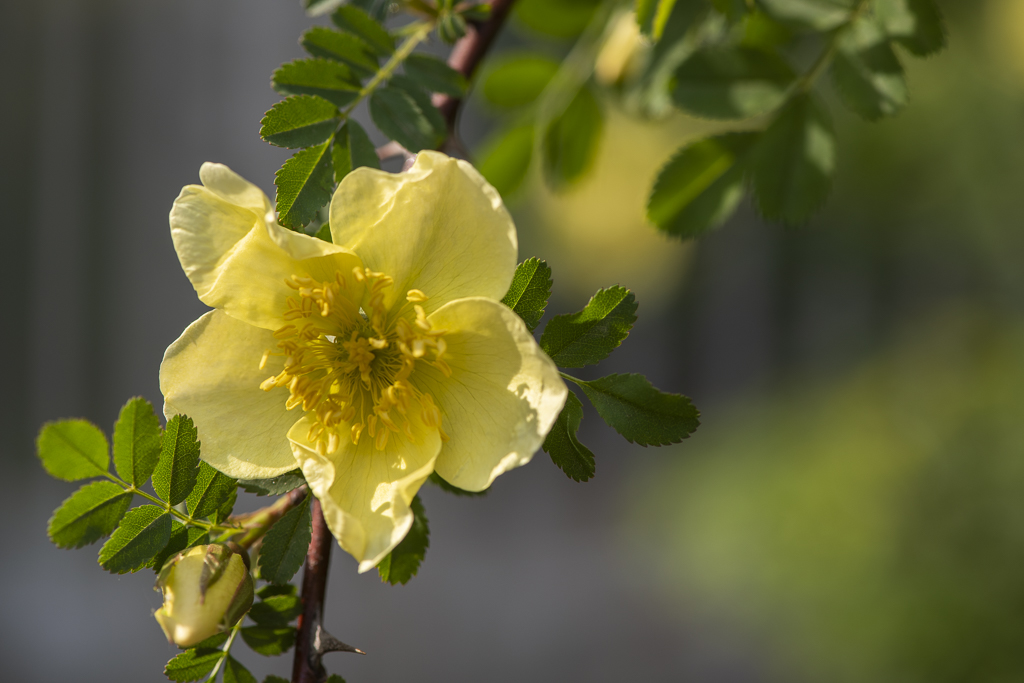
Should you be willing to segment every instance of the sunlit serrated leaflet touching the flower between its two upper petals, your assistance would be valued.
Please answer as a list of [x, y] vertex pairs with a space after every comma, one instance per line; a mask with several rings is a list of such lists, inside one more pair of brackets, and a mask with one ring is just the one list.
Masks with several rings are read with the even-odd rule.
[[291, 228], [307, 224], [331, 201], [334, 189], [331, 141], [297, 152], [274, 176], [278, 220]]

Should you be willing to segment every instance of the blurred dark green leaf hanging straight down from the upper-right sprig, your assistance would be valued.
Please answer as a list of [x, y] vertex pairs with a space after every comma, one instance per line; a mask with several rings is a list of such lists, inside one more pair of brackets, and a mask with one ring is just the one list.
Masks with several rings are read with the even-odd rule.
[[751, 154], [758, 205], [768, 218], [801, 223], [828, 196], [836, 138], [827, 113], [810, 95], [795, 97]]

